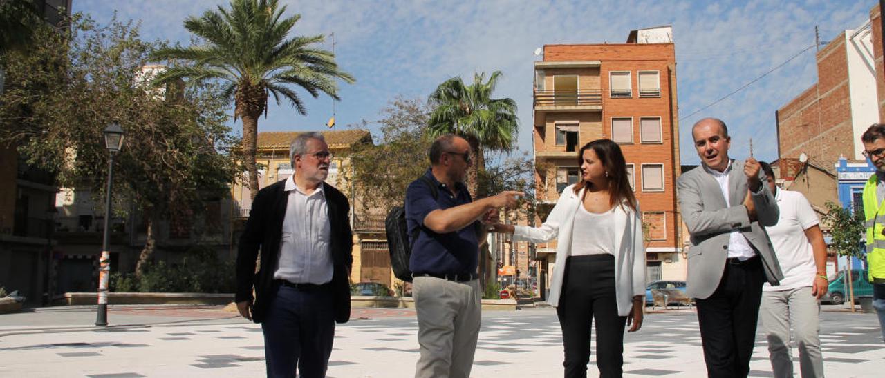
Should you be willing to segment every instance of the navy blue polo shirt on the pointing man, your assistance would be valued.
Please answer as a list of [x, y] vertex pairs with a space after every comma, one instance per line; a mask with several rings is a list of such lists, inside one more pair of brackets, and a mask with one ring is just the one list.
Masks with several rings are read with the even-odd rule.
[[409, 228], [410, 243], [415, 229], [420, 227], [418, 239], [412, 244], [409, 268], [415, 274], [476, 273], [479, 243], [475, 223], [444, 234], [423, 227], [424, 217], [431, 211], [470, 203], [472, 199], [467, 187], [458, 183], [455, 185], [458, 194], [452, 194], [445, 184], [436, 180], [431, 170], [428, 169], [424, 176], [436, 185], [439, 195], [434, 200], [430, 187], [421, 180], [413, 181], [405, 190], [405, 222]]

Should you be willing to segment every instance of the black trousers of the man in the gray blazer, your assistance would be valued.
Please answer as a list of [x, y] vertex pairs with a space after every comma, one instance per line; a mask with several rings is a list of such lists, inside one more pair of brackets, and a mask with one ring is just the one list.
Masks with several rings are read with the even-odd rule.
[[706, 299], [696, 299], [707, 375], [746, 377], [756, 343], [756, 323], [765, 271], [757, 256], [739, 264], [726, 261], [722, 280]]

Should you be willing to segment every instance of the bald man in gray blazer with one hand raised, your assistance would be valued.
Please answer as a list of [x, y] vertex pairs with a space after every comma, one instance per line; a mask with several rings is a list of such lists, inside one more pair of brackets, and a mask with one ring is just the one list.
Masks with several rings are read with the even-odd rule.
[[755, 159], [728, 157], [724, 122], [704, 118], [691, 133], [702, 164], [676, 181], [691, 235], [686, 291], [696, 299], [707, 374], [746, 377], [762, 284], [783, 277], [763, 227], [777, 223], [777, 202]]

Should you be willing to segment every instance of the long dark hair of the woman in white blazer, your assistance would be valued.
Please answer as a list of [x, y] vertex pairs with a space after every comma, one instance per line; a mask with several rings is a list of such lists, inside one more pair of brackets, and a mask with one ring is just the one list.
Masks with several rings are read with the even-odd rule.
[[[612, 140], [593, 140], [585, 144], [578, 152], [579, 166], [584, 164], [584, 151], [589, 148], [593, 148], [593, 152], [596, 153], [599, 161], [603, 163], [605, 171], [608, 172], [609, 206], [614, 207], [622, 200], [627, 200], [627, 205], [635, 211], [636, 196], [633, 194], [633, 189], [630, 188], [630, 180], [627, 178], [627, 161], [624, 159], [624, 154], [620, 152], [618, 143]], [[586, 186], [587, 181], [581, 180], [574, 185], [574, 193], [581, 192], [581, 189]]]

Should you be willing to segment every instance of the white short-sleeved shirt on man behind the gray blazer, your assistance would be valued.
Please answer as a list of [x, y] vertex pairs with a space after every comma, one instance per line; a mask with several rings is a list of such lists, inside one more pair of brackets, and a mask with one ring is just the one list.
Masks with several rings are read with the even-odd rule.
[[762, 290], [784, 291], [811, 286], [817, 267], [814, 266], [814, 251], [805, 237], [805, 230], [820, 223], [818, 215], [814, 214], [812, 205], [802, 193], [778, 189], [774, 199], [781, 209], [781, 216], [777, 224], [766, 227], [766, 231], [772, 240], [774, 254], [781, 263], [783, 279], [781, 285], [766, 283]]

